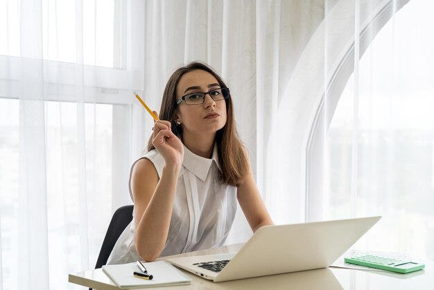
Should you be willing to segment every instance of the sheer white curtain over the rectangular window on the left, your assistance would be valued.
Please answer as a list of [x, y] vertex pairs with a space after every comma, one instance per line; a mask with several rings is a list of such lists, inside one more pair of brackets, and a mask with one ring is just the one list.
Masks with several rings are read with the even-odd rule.
[[0, 5], [0, 289], [73, 288], [67, 274], [94, 266], [113, 210], [130, 203], [144, 6]]

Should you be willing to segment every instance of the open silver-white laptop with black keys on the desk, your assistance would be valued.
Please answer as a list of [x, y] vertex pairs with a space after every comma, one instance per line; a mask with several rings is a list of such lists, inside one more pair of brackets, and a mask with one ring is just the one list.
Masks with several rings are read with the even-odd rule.
[[173, 257], [167, 261], [214, 282], [325, 268], [379, 219], [381, 216], [266, 225], [254, 232], [238, 253]]

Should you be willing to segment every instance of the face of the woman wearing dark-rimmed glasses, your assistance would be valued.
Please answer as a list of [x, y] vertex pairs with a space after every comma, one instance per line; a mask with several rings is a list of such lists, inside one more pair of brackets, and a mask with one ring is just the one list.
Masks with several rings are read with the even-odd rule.
[[[176, 87], [177, 100], [186, 94], [210, 92], [220, 88], [218, 81], [208, 71], [196, 69], [182, 75]], [[203, 103], [187, 105], [182, 101], [177, 105], [175, 121], [182, 123], [185, 133], [209, 134], [216, 133], [226, 123], [226, 101], [214, 101], [209, 94], [205, 95]]]

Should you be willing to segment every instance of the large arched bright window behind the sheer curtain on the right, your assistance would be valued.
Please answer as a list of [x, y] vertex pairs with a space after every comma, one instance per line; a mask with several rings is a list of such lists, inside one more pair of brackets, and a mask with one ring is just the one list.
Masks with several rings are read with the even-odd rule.
[[428, 259], [434, 257], [433, 8], [431, 1], [410, 1], [372, 40], [359, 63], [356, 118], [349, 78], [325, 137], [322, 196], [324, 219], [383, 215], [367, 248]]

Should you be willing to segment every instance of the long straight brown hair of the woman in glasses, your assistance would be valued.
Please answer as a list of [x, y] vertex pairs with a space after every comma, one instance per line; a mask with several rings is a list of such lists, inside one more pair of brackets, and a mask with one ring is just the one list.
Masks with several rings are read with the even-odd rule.
[[[175, 124], [175, 110], [176, 110], [176, 87], [182, 75], [189, 71], [200, 69], [212, 74], [220, 87], [227, 87], [222, 78], [216, 74], [214, 69], [205, 65], [202, 62], [190, 62], [184, 67], [175, 70], [172, 76], [168, 79], [166, 88], [164, 89], [162, 107], [159, 111], [159, 119], [171, 122], [171, 129], [173, 134], [182, 139], [182, 126]], [[238, 186], [243, 181], [243, 178], [248, 173], [248, 160], [245, 155], [245, 149], [241, 143], [238, 133], [236, 132], [236, 125], [234, 121], [234, 108], [229, 93], [229, 98], [225, 99], [227, 119], [223, 128], [216, 133], [216, 143], [218, 151], [218, 161], [222, 172], [219, 171], [219, 180], [228, 185]], [[151, 136], [148, 142], [148, 151], [155, 149], [153, 145], [153, 137]]]

